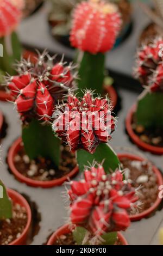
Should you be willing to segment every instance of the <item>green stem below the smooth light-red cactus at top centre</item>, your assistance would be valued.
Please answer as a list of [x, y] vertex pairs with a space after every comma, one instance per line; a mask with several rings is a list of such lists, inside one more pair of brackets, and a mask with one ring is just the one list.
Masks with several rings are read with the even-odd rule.
[[[80, 53], [79, 53], [80, 58]], [[103, 94], [103, 82], [104, 82], [104, 70], [105, 70], [105, 55], [103, 53], [97, 53], [95, 55], [84, 52], [82, 61], [80, 62], [78, 82], [79, 96], [83, 93], [81, 90], [92, 89], [96, 94]]]

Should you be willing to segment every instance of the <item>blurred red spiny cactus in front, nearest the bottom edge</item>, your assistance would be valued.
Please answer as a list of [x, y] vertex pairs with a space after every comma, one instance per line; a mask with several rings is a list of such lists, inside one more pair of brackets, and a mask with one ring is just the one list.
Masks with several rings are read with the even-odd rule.
[[129, 212], [136, 211], [140, 202], [130, 181], [123, 179], [124, 173], [117, 169], [106, 174], [95, 162], [85, 167], [84, 178], [70, 182], [70, 222], [76, 227], [73, 238], [79, 245], [114, 245], [116, 231], [129, 227]]

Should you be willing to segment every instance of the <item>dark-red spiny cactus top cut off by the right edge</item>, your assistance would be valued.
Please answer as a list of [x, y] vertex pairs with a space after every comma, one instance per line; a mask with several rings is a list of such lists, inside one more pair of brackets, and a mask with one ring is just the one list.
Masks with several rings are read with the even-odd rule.
[[135, 77], [151, 92], [163, 90], [163, 39], [143, 45], [137, 51]]

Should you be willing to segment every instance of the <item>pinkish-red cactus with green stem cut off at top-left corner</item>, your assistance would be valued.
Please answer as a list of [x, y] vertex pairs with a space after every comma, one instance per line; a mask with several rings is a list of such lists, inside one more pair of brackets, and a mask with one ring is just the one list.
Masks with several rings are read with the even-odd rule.
[[[20, 59], [21, 57], [21, 45], [14, 31], [21, 21], [23, 2], [23, 0], [0, 1], [0, 44], [2, 46], [1, 54], [3, 53], [0, 62], [1, 75], [5, 74], [5, 72], [14, 75], [15, 70], [12, 65], [15, 59]], [[3, 82], [2, 76], [1, 82]]]

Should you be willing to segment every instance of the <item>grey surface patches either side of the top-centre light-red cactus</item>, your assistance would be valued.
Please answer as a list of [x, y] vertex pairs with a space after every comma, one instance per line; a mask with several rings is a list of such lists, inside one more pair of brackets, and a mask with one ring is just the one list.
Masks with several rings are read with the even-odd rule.
[[[142, 29], [149, 20], [143, 14], [138, 1], [133, 1], [133, 31], [120, 46], [106, 55], [106, 67], [131, 75], [133, 72], [134, 57]], [[23, 44], [39, 47], [42, 50], [48, 48], [51, 52], [65, 53], [67, 57], [73, 57], [74, 51], [59, 44], [49, 33], [47, 14], [49, 5], [45, 4], [35, 15], [22, 22], [19, 29], [20, 39]]]

